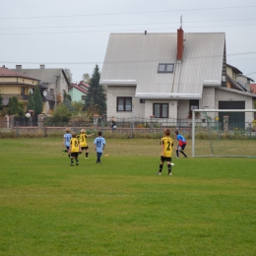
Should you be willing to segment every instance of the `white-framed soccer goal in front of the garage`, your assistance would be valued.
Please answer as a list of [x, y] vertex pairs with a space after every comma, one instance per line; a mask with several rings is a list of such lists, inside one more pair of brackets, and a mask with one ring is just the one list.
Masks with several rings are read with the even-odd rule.
[[256, 158], [256, 109], [194, 109], [192, 157]]

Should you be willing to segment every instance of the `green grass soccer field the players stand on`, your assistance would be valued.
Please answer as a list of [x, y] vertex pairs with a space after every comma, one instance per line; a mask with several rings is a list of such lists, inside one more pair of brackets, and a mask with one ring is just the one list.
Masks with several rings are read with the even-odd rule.
[[[256, 255], [256, 159], [173, 159], [108, 139], [70, 166], [62, 138], [0, 140], [0, 255]], [[191, 156], [191, 142], [186, 152]]]

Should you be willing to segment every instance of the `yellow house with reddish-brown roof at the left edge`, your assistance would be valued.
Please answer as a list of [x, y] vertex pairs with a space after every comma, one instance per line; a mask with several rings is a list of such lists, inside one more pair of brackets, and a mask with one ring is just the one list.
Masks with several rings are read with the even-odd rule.
[[39, 85], [38, 79], [5, 67], [0, 68], [0, 94], [5, 106], [8, 106], [11, 96], [17, 96], [19, 101], [24, 102], [25, 110], [27, 110], [30, 92], [34, 92], [36, 85]]

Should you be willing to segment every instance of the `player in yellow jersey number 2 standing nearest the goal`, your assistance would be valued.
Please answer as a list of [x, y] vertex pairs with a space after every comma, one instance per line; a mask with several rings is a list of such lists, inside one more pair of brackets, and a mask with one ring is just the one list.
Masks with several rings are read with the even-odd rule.
[[160, 140], [161, 145], [161, 153], [160, 153], [160, 170], [158, 174], [161, 174], [163, 162], [167, 162], [168, 167], [168, 175], [171, 175], [171, 156], [172, 156], [172, 147], [173, 147], [173, 140], [169, 137], [170, 136], [170, 129], [164, 130], [164, 137]]

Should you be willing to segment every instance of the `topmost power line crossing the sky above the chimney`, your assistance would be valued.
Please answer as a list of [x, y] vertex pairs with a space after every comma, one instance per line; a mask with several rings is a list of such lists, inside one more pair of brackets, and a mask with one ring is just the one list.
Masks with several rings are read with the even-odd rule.
[[151, 11], [151, 12], [129, 12], [129, 13], [106, 13], [106, 14], [81, 14], [81, 15], [54, 15], [54, 16], [31, 16], [31, 17], [7, 17], [0, 18], [0, 20], [21, 20], [21, 19], [51, 19], [51, 18], [67, 18], [67, 17], [92, 17], [92, 16], [113, 16], [113, 15], [137, 15], [137, 14], [153, 14], [153, 13], [173, 13], [173, 12], [190, 12], [190, 11], [206, 11], [206, 10], [224, 10], [224, 9], [240, 9], [252, 8], [256, 5], [243, 6], [226, 6], [226, 7], [212, 7], [212, 8], [195, 8], [195, 9], [176, 9], [168, 11]]

